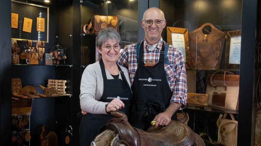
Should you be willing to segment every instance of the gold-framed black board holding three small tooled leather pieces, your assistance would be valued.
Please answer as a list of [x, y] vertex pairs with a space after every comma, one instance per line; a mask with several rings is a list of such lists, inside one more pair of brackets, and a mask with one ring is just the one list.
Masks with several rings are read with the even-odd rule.
[[[12, 13], [18, 15], [18, 28], [12, 27], [11, 36], [13, 40], [49, 42], [49, 7], [16, 0], [11, 0], [11, 7]], [[32, 19], [31, 29], [28, 31], [23, 29], [25, 18]], [[41, 25], [45, 29], [37, 29], [39, 18], [45, 20], [42, 21], [44, 24]]]

